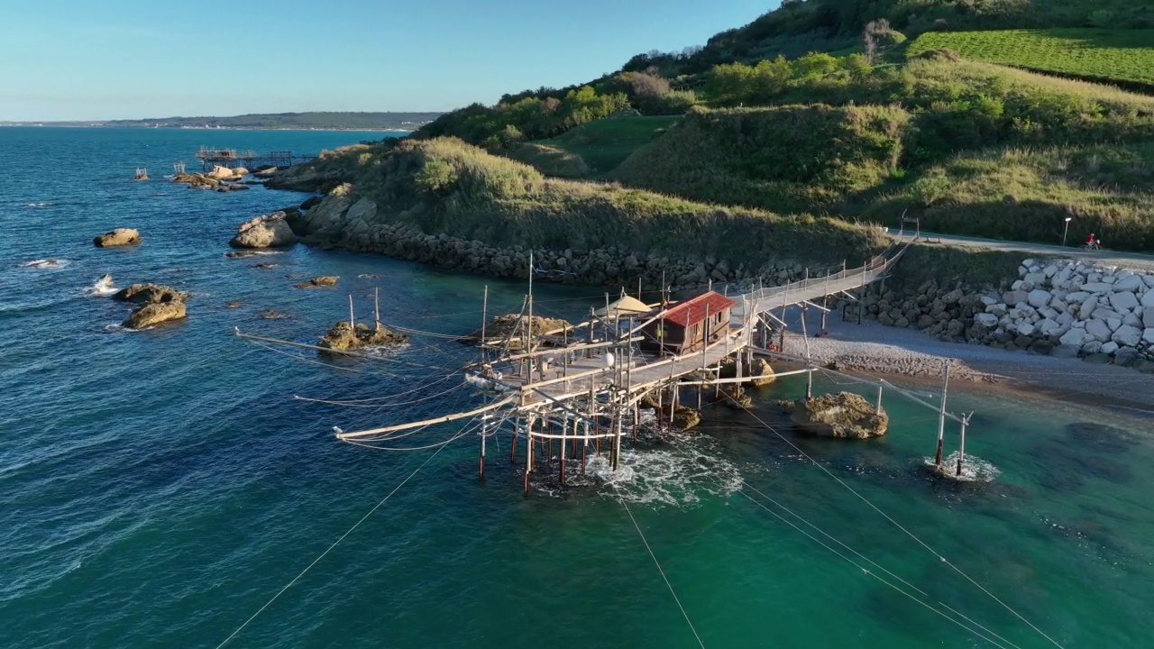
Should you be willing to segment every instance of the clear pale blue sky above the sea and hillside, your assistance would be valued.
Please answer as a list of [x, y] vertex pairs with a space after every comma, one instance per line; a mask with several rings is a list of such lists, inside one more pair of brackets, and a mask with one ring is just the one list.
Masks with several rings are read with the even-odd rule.
[[[40, 0], [0, 12], [0, 120], [443, 111], [702, 45], [778, 0]], [[110, 8], [115, 7], [115, 8]]]

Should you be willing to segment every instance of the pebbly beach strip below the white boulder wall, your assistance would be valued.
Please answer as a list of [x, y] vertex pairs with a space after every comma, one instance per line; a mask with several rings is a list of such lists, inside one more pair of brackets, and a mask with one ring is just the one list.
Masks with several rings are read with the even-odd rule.
[[[810, 319], [816, 324], [812, 313]], [[800, 330], [796, 318], [789, 320], [790, 330]], [[827, 329], [829, 336], [809, 338], [809, 351], [819, 364], [834, 363], [844, 371], [932, 379], [942, 375], [943, 359], [951, 358], [951, 378], [977, 385], [1027, 388], [1084, 403], [1154, 408], [1154, 374], [1072, 358], [947, 343], [876, 321], [841, 322], [837, 313], [830, 314]], [[804, 341], [800, 335], [787, 336], [784, 351], [803, 357]]]

